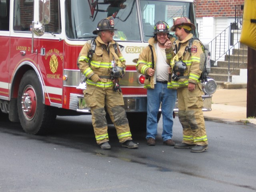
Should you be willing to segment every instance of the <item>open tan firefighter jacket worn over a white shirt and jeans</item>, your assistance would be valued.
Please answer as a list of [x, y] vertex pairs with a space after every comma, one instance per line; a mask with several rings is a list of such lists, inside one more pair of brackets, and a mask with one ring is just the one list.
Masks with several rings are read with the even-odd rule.
[[[170, 40], [173, 42], [175, 38], [170, 38]], [[154, 70], [156, 70], [157, 64], [156, 64], [156, 48], [155, 45], [157, 43], [157, 40], [152, 37], [148, 40], [148, 44], [152, 46], [152, 51], [154, 55]], [[169, 61], [169, 62], [168, 62]], [[170, 63], [170, 60], [166, 59], [167, 63]], [[136, 65], [136, 69], [140, 74], [146, 75], [146, 79], [144, 81], [144, 88], [152, 88], [154, 89], [154, 83], [155, 79], [154, 76], [150, 77], [148, 76], [148, 69], [152, 68], [152, 54], [149, 46], [146, 46], [142, 52], [139, 55], [139, 60]], [[168, 82], [167, 88], [173, 88], [172, 82]]]

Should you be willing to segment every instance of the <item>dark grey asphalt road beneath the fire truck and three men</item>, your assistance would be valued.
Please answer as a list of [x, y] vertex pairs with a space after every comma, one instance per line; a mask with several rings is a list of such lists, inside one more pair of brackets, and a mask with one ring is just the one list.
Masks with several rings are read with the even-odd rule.
[[[122, 148], [109, 126], [111, 150], [95, 142], [91, 116], [57, 117], [47, 136], [25, 134], [0, 114], [0, 192], [253, 192], [256, 126], [206, 121], [209, 150], [156, 146], [132, 131], [138, 149]], [[176, 143], [182, 141], [178, 117]]]

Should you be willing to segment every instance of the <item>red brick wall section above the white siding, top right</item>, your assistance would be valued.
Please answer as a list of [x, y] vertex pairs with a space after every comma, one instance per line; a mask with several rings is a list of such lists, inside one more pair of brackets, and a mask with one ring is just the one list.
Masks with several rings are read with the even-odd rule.
[[240, 4], [244, 0], [196, 0], [196, 17], [234, 17]]

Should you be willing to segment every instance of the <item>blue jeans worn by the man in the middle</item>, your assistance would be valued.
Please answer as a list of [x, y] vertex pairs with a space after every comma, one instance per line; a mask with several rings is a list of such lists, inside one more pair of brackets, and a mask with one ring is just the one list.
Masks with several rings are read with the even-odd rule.
[[167, 84], [156, 82], [154, 89], [147, 90], [147, 136], [148, 138], [156, 138], [157, 135], [157, 114], [162, 109], [164, 141], [172, 138], [173, 117], [172, 112], [177, 98], [177, 90], [167, 89]]

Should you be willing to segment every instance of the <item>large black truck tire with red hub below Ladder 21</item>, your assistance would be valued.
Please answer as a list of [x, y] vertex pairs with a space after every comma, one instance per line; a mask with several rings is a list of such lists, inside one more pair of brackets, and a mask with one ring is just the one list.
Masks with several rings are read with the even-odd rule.
[[54, 124], [56, 110], [43, 104], [42, 86], [33, 70], [22, 77], [18, 90], [18, 115], [28, 134], [46, 134]]

